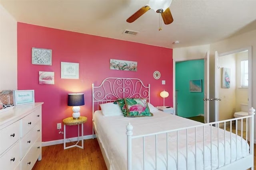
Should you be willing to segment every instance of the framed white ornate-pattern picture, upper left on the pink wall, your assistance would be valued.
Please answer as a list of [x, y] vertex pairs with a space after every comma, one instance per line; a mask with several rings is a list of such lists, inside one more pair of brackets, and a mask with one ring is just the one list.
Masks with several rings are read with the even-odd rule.
[[32, 48], [32, 64], [52, 65], [52, 50]]

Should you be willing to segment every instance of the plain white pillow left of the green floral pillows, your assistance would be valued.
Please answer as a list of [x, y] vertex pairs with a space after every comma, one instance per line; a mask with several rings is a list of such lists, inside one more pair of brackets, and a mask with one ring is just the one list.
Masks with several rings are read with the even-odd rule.
[[105, 116], [123, 115], [119, 105], [114, 102], [100, 104], [100, 108]]

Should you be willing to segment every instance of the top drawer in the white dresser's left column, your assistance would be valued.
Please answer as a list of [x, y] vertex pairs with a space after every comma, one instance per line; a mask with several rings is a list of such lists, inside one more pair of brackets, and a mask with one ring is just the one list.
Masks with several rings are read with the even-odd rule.
[[16, 121], [0, 130], [0, 154], [20, 138], [20, 123]]

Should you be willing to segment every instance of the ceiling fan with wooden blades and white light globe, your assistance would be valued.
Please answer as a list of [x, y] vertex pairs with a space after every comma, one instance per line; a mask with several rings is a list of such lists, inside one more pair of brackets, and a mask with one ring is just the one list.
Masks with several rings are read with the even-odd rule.
[[161, 14], [164, 23], [166, 25], [172, 23], [173, 18], [169, 6], [171, 5], [172, 0], [149, 0], [148, 4], [140, 8], [132, 16], [130, 16], [126, 21], [132, 23], [142, 16], [145, 12], [150, 9], [153, 9], [155, 12]]

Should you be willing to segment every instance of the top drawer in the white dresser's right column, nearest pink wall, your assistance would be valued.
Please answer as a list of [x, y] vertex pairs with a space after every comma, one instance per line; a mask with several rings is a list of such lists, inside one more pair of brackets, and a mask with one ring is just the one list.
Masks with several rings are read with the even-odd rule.
[[41, 120], [41, 113], [41, 109], [36, 109], [33, 113], [21, 119], [21, 137], [24, 137]]

